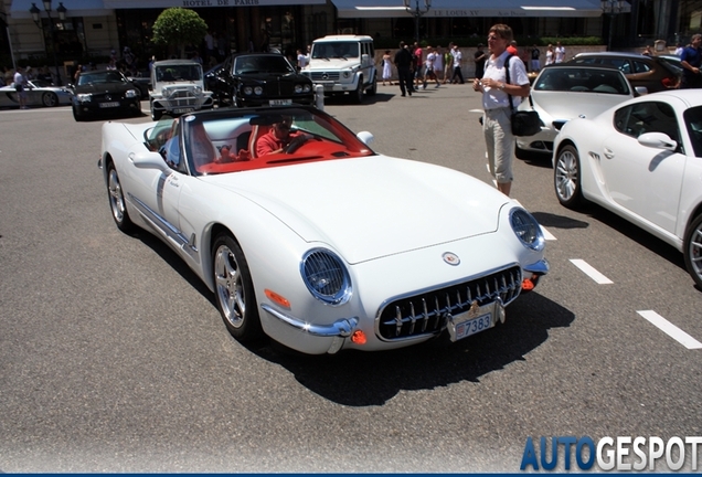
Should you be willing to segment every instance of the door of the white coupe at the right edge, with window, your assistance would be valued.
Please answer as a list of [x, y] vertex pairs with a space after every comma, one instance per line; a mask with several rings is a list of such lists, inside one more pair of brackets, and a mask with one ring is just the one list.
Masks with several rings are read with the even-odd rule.
[[680, 145], [680, 125], [666, 102], [639, 102], [618, 109], [616, 134], [603, 142], [600, 170], [609, 198], [618, 206], [674, 232], [685, 157], [639, 144], [645, 132], [664, 132]]

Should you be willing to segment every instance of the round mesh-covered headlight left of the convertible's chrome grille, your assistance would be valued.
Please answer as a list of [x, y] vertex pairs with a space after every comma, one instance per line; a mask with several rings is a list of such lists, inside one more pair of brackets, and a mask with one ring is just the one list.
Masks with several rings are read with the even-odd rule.
[[334, 253], [315, 248], [305, 254], [300, 265], [302, 280], [315, 298], [328, 305], [343, 305], [351, 297], [351, 278]]

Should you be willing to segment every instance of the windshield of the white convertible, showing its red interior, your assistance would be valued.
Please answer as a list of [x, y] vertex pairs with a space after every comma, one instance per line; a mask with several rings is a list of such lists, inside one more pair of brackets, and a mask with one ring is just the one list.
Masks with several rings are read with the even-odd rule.
[[[345, 126], [311, 107], [222, 109], [187, 115], [180, 123], [188, 165], [195, 176], [374, 155]], [[159, 130], [155, 128], [151, 136], [158, 137]], [[152, 147], [160, 147], [161, 140]]]

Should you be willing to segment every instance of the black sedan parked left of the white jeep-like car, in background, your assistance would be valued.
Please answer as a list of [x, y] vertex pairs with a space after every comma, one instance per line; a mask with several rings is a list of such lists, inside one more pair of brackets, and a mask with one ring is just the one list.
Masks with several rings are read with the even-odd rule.
[[117, 70], [81, 73], [73, 93], [73, 117], [77, 121], [88, 116], [141, 114], [137, 86]]

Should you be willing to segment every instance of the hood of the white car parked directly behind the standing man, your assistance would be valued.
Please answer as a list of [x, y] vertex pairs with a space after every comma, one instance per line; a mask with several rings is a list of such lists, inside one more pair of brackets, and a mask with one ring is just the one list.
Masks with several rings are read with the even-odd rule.
[[[577, 93], [577, 92], [532, 92], [534, 108], [545, 112], [552, 119], [573, 119], [584, 115], [592, 119], [613, 106], [631, 99], [634, 96]], [[530, 109], [529, 100], [519, 105], [519, 109]]]

